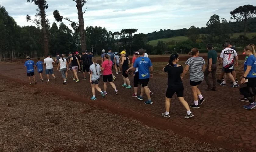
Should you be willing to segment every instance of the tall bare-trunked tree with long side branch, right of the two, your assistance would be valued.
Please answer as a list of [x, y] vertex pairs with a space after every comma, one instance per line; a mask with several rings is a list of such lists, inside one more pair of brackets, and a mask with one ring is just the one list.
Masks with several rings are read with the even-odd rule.
[[[85, 11], [83, 11], [83, 7], [86, 5], [87, 8], [87, 0], [72, 0], [76, 2], [76, 8], [77, 8], [77, 13], [78, 13], [78, 22], [73, 22], [69, 18], [64, 18], [59, 14], [58, 10], [53, 11], [53, 16], [56, 19], [57, 22], [62, 22], [62, 19], [65, 19], [71, 23], [72, 28], [76, 31], [79, 31], [80, 33], [80, 40], [81, 40], [81, 49], [86, 50], [86, 33], [84, 30], [84, 17], [83, 14]], [[78, 26], [78, 27], [77, 27]]]

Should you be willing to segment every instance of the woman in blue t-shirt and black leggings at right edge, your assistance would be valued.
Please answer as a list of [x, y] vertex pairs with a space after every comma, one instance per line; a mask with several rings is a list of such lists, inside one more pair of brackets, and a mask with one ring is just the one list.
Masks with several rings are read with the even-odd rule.
[[246, 84], [246, 87], [240, 88], [240, 92], [247, 98], [250, 102], [249, 105], [245, 105], [244, 108], [251, 110], [255, 109], [256, 102], [256, 53], [254, 46], [244, 47], [244, 52], [248, 56], [248, 59], [244, 62], [244, 74], [241, 80], [241, 84]]

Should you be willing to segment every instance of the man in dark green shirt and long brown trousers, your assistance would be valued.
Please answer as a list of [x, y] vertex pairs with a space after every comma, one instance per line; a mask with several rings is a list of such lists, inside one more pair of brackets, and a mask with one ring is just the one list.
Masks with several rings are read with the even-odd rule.
[[[217, 70], [217, 52], [215, 50], [212, 50], [213, 46], [212, 44], [207, 45], [207, 59], [208, 59], [208, 65], [204, 71], [204, 80], [206, 81], [208, 87], [207, 90], [212, 90], [216, 91], [216, 70]], [[213, 84], [211, 85], [208, 75], [212, 74], [212, 82]]]

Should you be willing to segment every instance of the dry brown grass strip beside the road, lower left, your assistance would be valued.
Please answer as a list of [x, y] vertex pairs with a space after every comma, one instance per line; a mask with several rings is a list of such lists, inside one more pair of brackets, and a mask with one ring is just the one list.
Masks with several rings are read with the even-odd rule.
[[226, 151], [0, 80], [0, 151]]

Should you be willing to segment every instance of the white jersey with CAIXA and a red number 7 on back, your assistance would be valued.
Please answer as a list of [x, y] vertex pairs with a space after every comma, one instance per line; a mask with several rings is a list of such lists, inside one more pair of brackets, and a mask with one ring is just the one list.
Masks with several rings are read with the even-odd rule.
[[223, 67], [233, 69], [235, 56], [237, 56], [237, 52], [234, 49], [225, 48], [222, 50], [220, 58], [223, 58]]

